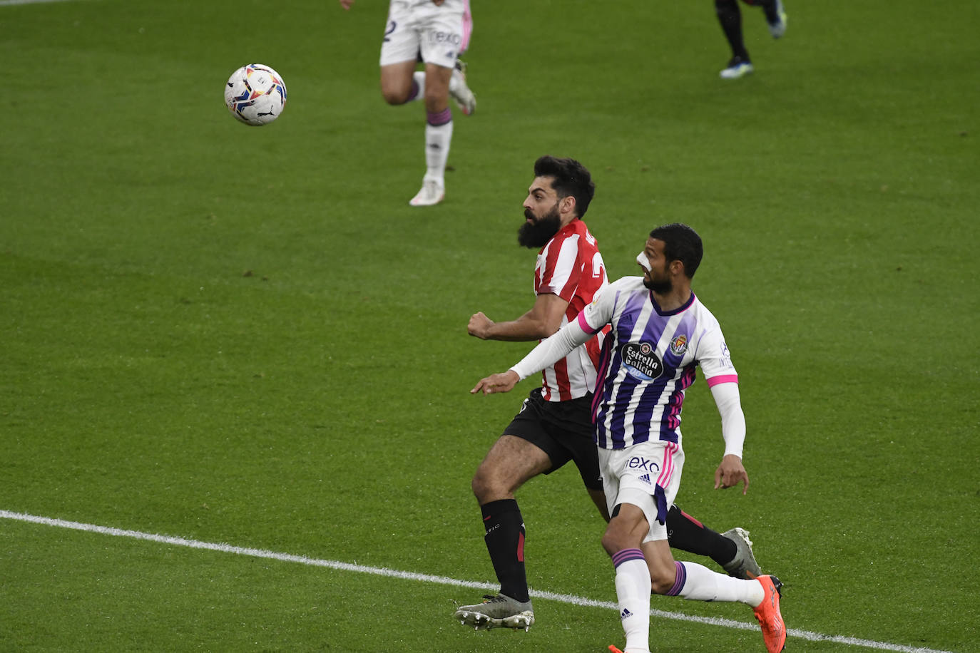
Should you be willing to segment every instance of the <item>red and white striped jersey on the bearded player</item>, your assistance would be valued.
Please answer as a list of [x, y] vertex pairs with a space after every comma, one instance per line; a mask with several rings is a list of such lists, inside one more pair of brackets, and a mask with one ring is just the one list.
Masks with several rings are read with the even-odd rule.
[[[575, 218], [566, 224], [538, 253], [534, 267], [534, 295], [552, 293], [568, 303], [562, 326], [575, 319], [596, 292], [609, 284], [606, 265], [595, 237], [585, 222]], [[549, 401], [567, 401], [593, 392], [596, 366], [605, 333], [572, 350], [562, 360], [541, 372], [541, 396]]]

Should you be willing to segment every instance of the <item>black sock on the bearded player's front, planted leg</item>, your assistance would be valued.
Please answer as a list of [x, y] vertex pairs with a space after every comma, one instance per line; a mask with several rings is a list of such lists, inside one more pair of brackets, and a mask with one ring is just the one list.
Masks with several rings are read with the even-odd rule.
[[524, 573], [524, 519], [515, 499], [490, 501], [480, 506], [483, 512], [483, 540], [500, 581], [500, 593], [524, 602], [527, 576]]

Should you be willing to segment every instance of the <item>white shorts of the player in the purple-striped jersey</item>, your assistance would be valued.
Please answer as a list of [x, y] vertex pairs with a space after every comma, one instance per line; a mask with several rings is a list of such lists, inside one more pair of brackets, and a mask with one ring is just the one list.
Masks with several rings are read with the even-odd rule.
[[[643, 510], [650, 525], [643, 541], [666, 539], [666, 510], [680, 489], [683, 467], [684, 449], [680, 444], [657, 441], [624, 449], [599, 449], [599, 473], [610, 514], [620, 503], [631, 503]], [[658, 505], [659, 494], [663, 495], [662, 506]], [[660, 509], [664, 524], [657, 521]]]

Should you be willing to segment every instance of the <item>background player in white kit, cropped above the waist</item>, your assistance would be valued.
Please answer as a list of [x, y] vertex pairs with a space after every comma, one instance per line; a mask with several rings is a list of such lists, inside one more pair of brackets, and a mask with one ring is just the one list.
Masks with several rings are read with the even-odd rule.
[[[350, 9], [354, 0], [340, 0]], [[418, 98], [425, 102], [425, 175], [412, 200], [413, 207], [442, 202], [446, 194], [446, 161], [453, 140], [449, 96], [467, 116], [476, 98], [466, 76], [456, 67], [466, 50], [472, 20], [469, 0], [391, 0], [381, 42], [381, 95], [390, 105]], [[417, 62], [425, 64], [416, 71]]]

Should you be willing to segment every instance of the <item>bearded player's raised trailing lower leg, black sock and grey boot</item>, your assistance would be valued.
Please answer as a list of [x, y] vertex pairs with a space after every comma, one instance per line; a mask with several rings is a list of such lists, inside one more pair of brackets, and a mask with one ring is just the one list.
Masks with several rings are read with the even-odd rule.
[[761, 575], [747, 531], [734, 528], [717, 533], [676, 505], [667, 511], [666, 526], [671, 548], [707, 556], [736, 578], [754, 579]]

